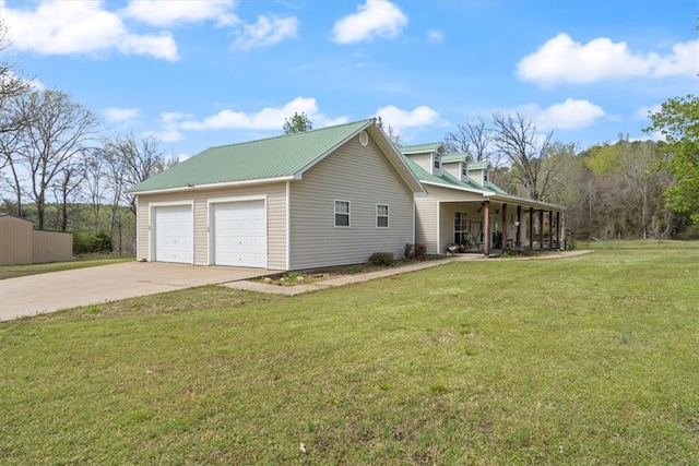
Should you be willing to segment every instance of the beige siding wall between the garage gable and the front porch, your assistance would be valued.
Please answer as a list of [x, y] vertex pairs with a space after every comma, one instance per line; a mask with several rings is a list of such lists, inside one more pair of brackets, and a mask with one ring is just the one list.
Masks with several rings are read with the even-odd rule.
[[[466, 191], [427, 186], [429, 195], [416, 198], [415, 241], [427, 247], [428, 254], [442, 254], [454, 238], [454, 212], [465, 212], [470, 220], [479, 222], [477, 213], [483, 195]], [[474, 235], [477, 231], [473, 231]]]

